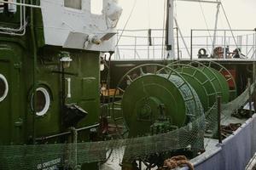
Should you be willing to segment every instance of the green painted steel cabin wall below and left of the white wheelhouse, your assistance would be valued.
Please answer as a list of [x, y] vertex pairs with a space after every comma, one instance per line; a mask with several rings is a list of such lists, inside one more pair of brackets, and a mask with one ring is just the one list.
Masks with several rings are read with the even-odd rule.
[[[40, 1], [26, 0], [25, 3], [39, 5]], [[61, 133], [70, 129], [63, 122], [62, 91], [65, 91], [64, 105], [75, 104], [88, 112], [73, 126], [83, 128], [99, 122], [100, 53], [46, 46], [40, 8], [26, 8], [26, 21], [25, 35], [0, 36], [0, 75], [6, 78], [9, 87], [6, 98], [0, 101], [0, 145], [66, 143], [70, 135]], [[5, 10], [0, 13], [0, 23], [1, 27], [18, 28], [19, 6], [14, 14]], [[73, 61], [61, 77], [60, 54], [63, 51], [68, 52]], [[70, 97], [67, 97], [67, 78], [71, 82]], [[49, 98], [42, 92], [35, 94], [36, 88], [44, 89]], [[36, 99], [39, 111], [49, 101], [44, 116], [35, 115], [32, 99]], [[78, 142], [84, 141], [90, 141], [90, 128], [79, 131]], [[82, 169], [87, 168], [90, 168], [88, 164], [82, 166]], [[96, 165], [90, 169], [94, 168]]]

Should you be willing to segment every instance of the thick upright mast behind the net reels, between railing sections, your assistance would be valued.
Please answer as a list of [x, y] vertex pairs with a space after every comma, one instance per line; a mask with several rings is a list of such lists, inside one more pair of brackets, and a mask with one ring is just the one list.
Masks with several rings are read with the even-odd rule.
[[175, 59], [173, 34], [173, 0], [167, 0], [166, 5], [166, 51], [167, 59]]

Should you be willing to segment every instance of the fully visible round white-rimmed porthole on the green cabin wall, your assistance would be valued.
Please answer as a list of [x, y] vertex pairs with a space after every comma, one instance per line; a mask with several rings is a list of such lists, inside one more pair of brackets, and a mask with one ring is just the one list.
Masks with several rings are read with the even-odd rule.
[[[31, 106], [33, 109], [34, 95], [32, 94]], [[50, 97], [46, 88], [37, 88], [37, 100], [36, 100], [36, 114], [37, 116], [44, 116], [49, 111]]]

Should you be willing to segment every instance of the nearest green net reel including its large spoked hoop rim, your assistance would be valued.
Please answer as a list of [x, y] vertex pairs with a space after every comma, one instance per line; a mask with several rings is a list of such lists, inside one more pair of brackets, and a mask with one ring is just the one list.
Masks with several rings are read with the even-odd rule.
[[117, 91], [122, 93], [114, 94], [112, 117], [122, 138], [165, 133], [193, 122], [204, 112], [194, 88], [165, 65], [131, 69], [119, 81]]

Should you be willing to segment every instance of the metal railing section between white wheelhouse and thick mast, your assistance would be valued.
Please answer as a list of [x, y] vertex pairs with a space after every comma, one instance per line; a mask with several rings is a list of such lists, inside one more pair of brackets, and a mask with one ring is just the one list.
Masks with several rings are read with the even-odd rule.
[[161, 29], [119, 30], [114, 59], [165, 59], [165, 34]]

